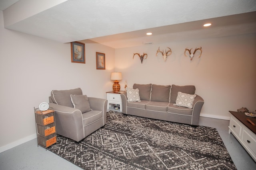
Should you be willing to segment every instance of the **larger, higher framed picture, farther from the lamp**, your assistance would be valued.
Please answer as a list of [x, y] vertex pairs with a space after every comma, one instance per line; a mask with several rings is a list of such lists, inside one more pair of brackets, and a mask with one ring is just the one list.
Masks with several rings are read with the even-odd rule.
[[71, 62], [85, 63], [84, 43], [80, 43], [77, 41], [71, 43]]

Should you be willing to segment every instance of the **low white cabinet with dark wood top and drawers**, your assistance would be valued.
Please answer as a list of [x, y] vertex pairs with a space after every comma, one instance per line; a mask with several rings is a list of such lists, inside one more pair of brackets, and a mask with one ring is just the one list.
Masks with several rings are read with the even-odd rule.
[[[256, 161], [256, 124], [255, 118], [248, 118], [244, 113], [229, 111], [231, 118], [228, 126], [228, 133], [232, 133], [244, 149]], [[250, 123], [249, 119], [252, 123]]]

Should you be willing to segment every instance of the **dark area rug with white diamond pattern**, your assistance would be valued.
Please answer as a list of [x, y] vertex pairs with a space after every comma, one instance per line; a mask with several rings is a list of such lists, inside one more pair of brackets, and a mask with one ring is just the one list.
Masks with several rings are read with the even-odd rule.
[[48, 150], [90, 170], [234, 170], [217, 130], [109, 111], [80, 143], [58, 135]]

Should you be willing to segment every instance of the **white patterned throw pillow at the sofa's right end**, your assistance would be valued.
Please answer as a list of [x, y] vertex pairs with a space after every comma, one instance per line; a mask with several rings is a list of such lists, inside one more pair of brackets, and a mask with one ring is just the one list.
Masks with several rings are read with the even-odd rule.
[[173, 104], [173, 105], [188, 107], [192, 109], [192, 105], [195, 98], [196, 98], [196, 94], [186, 94], [186, 93], [178, 92], [178, 96], [176, 98], [176, 104]]

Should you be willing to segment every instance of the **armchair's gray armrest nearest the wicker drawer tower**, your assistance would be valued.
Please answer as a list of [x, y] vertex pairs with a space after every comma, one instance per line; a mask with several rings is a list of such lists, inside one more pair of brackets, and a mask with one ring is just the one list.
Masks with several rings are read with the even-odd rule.
[[56, 133], [80, 141], [84, 138], [83, 117], [80, 110], [49, 103], [55, 111]]

